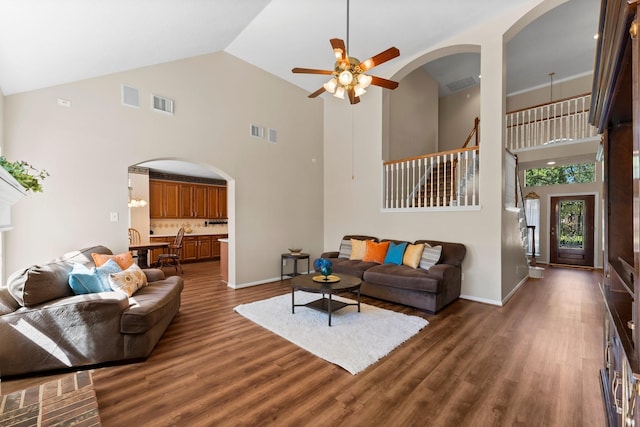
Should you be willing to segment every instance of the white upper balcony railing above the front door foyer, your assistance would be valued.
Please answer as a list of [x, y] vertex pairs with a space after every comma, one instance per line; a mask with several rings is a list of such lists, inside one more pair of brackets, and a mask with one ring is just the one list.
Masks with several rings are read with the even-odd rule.
[[506, 115], [505, 146], [512, 152], [597, 136], [589, 124], [591, 95], [580, 95]]

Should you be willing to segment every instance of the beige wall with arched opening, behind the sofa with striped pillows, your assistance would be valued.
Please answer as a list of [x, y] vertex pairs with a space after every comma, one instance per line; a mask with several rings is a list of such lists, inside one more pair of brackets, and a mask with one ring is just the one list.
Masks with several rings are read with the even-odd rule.
[[[325, 101], [325, 250], [337, 250], [345, 234], [464, 243], [467, 255], [463, 262], [463, 297], [492, 304], [502, 304], [504, 296], [526, 277], [526, 268], [503, 265], [503, 251], [507, 252], [504, 257], [507, 260], [516, 258], [518, 253], [523, 256], [521, 246], [513, 248], [503, 242], [501, 191], [505, 111], [503, 34], [525, 12], [520, 8], [500, 21], [471, 29], [404, 63], [404, 69], [398, 66], [390, 75], [382, 76], [401, 78], [406, 69], [415, 69], [435, 54], [455, 53], [459, 51], [458, 46], [466, 51], [480, 46], [483, 76], [480, 210], [383, 211], [382, 142], [388, 126], [388, 104], [383, 99], [389, 95], [382, 89], [371, 89], [357, 108], [333, 99]], [[450, 51], [448, 47], [452, 47]], [[507, 236], [504, 240], [510, 238]]]

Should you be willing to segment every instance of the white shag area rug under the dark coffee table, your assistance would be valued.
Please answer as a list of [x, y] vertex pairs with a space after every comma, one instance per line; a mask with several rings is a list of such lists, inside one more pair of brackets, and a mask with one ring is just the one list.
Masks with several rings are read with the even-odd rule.
[[[306, 304], [320, 297], [320, 294], [297, 291], [295, 302]], [[335, 295], [333, 298], [355, 302]], [[291, 293], [241, 304], [234, 310], [353, 375], [386, 356], [429, 324], [418, 316], [360, 304], [360, 313], [357, 306], [347, 306], [332, 313], [329, 326], [327, 313], [296, 307], [295, 314], [292, 314]]]

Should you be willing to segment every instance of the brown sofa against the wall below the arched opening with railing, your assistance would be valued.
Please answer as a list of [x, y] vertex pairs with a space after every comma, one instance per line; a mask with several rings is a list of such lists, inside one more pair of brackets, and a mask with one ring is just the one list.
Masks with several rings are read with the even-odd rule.
[[[342, 241], [350, 239], [379, 241], [376, 237], [362, 235], [347, 235], [343, 237]], [[390, 239], [382, 241], [386, 240]], [[325, 252], [321, 258], [327, 258], [331, 261], [334, 273], [359, 277], [362, 280], [360, 292], [363, 295], [408, 305], [429, 313], [437, 313], [460, 297], [461, 266], [466, 254], [466, 247], [461, 243], [436, 240], [417, 240], [413, 243], [441, 245], [440, 260], [436, 265], [425, 270], [407, 265], [377, 264], [340, 258], [338, 251]]]

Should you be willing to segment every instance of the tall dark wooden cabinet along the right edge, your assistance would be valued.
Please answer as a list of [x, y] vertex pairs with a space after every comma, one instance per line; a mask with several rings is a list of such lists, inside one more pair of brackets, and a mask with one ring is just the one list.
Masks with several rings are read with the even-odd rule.
[[609, 426], [640, 426], [639, 0], [602, 0], [591, 123], [603, 134], [604, 343]]

